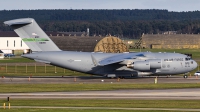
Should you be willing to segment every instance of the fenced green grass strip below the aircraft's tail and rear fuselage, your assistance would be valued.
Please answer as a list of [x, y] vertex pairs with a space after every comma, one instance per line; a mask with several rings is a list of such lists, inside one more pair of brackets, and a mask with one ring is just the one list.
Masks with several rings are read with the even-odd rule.
[[[45, 73], [46, 71], [46, 73]], [[0, 76], [89, 76], [55, 66], [0, 66]]]

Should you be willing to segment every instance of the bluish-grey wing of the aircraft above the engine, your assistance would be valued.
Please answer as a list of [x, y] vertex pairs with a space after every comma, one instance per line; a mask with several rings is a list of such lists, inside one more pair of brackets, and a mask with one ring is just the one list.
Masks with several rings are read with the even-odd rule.
[[143, 54], [132, 54], [132, 53], [124, 53], [124, 54], [119, 54], [119, 55], [115, 55], [115, 56], [111, 56], [108, 58], [105, 58], [103, 60], [100, 60], [98, 62], [98, 66], [104, 66], [104, 65], [109, 65], [109, 64], [113, 64], [113, 63], [119, 63], [122, 62], [126, 59], [134, 59], [137, 57], [145, 57]]

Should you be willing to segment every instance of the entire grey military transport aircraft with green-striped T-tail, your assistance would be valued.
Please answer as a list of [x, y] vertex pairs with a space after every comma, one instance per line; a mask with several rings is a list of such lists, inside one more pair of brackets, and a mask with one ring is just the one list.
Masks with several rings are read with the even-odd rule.
[[[197, 63], [179, 53], [100, 53], [62, 51], [32, 18], [4, 22], [33, 51], [22, 57], [83, 73], [107, 77], [174, 75], [194, 70]], [[187, 78], [187, 75], [184, 75]]]

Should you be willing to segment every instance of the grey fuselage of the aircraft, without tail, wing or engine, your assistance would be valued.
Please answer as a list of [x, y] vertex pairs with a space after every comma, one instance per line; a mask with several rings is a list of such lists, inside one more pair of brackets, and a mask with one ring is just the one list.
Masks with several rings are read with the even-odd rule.
[[[130, 57], [134, 57], [141, 54], [144, 56], [138, 56], [133, 59], [125, 59], [122, 62], [113, 63], [105, 66], [96, 65], [92, 59], [92, 56], [95, 57], [95, 60], [100, 61], [109, 57], [113, 57], [115, 55], [129, 55]], [[186, 55], [179, 53], [91, 53], [71, 51], [46, 51], [26, 54], [22, 56], [62, 68], [95, 75], [173, 75], [187, 73], [197, 67], [197, 63], [194, 60], [188, 58]], [[149, 70], [143, 70], [142, 65], [139, 66], [141, 67], [141, 70], [135, 70], [134, 68], [127, 67], [127, 63], [146, 62], [148, 60], [160, 60], [160, 67], [150, 68]]]

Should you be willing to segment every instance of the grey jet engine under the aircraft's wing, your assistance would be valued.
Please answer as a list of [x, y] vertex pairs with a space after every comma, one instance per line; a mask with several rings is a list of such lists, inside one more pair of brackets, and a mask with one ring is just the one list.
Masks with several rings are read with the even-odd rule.
[[161, 60], [160, 59], [150, 59], [145, 61], [135, 61], [131, 64], [127, 64], [128, 68], [133, 68], [139, 71], [148, 71], [150, 69], [160, 69]]

